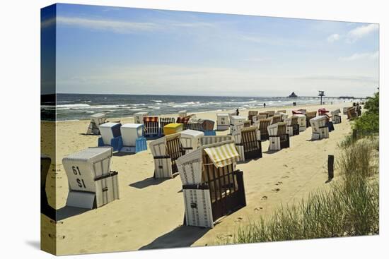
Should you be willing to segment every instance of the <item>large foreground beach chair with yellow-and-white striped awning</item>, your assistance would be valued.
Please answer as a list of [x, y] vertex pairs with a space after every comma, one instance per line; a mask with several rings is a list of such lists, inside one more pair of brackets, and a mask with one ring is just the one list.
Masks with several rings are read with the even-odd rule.
[[188, 226], [213, 228], [223, 216], [245, 207], [243, 172], [233, 140], [204, 145], [178, 159]]

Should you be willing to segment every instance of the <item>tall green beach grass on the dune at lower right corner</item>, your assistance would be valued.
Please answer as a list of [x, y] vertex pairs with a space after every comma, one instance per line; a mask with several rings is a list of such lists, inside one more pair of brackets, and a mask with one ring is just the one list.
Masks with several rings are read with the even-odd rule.
[[227, 243], [257, 243], [325, 237], [373, 235], [379, 232], [378, 151], [376, 140], [344, 147], [337, 159], [341, 181], [311, 194], [297, 205], [240, 227]]

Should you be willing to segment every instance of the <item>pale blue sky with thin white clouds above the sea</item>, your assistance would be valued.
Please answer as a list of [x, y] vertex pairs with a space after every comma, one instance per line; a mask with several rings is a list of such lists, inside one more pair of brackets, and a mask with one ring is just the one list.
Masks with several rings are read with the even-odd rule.
[[57, 92], [365, 97], [379, 26], [57, 4]]

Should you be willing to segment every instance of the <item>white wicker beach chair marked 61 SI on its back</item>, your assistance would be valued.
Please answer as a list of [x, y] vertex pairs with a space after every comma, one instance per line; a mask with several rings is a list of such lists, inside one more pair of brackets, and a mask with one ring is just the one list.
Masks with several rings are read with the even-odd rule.
[[112, 147], [88, 147], [62, 159], [69, 182], [66, 206], [98, 208], [119, 198], [117, 171], [110, 170]]

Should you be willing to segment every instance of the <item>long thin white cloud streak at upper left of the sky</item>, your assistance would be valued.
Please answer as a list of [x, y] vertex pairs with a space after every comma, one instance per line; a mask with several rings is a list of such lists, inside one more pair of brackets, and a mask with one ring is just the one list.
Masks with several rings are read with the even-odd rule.
[[72, 25], [91, 30], [112, 30], [117, 33], [131, 33], [137, 31], [151, 31], [158, 29], [156, 23], [134, 23], [117, 20], [97, 20], [90, 18], [74, 18], [58, 16], [59, 25]]

